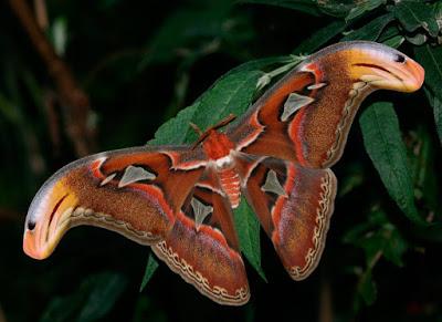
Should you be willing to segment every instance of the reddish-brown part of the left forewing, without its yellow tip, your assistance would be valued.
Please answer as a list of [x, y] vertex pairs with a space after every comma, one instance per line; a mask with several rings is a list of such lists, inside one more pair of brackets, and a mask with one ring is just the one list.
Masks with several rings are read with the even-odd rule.
[[[171, 229], [176, 209], [203, 170], [170, 170], [170, 164], [164, 153], [129, 149], [108, 153], [67, 172], [64, 186], [77, 199], [72, 226], [93, 225], [140, 243], [158, 242]], [[129, 167], [141, 174], [130, 177]], [[143, 172], [151, 177], [144, 178]]]

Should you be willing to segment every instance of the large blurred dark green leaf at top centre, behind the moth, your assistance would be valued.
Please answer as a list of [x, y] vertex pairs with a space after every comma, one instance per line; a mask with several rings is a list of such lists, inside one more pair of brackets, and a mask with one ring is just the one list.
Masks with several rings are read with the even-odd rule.
[[[213, 0], [170, 13], [149, 40], [139, 69], [177, 58], [193, 56], [196, 60], [220, 50], [225, 43], [246, 43], [253, 37], [253, 29], [245, 15], [231, 14], [232, 6], [233, 1]], [[238, 51], [241, 48], [234, 48], [231, 53]]]

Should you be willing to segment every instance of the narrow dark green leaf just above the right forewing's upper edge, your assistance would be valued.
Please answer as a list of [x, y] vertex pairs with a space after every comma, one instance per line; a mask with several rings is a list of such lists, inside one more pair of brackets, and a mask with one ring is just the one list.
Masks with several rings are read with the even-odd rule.
[[345, 21], [334, 21], [326, 27], [315, 31], [304, 42], [302, 42], [294, 51], [294, 54], [313, 53], [322, 48], [329, 40], [341, 33], [346, 29]]

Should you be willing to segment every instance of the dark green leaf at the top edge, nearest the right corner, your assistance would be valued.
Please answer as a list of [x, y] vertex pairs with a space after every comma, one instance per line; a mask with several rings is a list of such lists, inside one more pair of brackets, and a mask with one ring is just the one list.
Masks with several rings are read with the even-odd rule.
[[396, 6], [392, 7], [392, 12], [409, 32], [414, 32], [418, 28], [423, 28], [432, 37], [436, 37], [439, 33], [439, 25], [434, 18], [433, 10], [423, 1], [398, 1]]

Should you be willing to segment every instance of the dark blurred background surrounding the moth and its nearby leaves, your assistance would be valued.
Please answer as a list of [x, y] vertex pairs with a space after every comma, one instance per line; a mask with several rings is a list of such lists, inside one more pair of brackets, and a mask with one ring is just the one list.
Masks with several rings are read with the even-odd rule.
[[[22, 229], [33, 195], [84, 152], [67, 131], [78, 122], [70, 114], [74, 107], [66, 107], [9, 2], [0, 3], [0, 321], [442, 321], [442, 232], [417, 227], [391, 200], [357, 121], [334, 168], [340, 186], [318, 268], [292, 281], [262, 233], [269, 282], [246, 263], [252, 298], [244, 307], [211, 302], [162, 263], [140, 293], [149, 249], [102, 229], [73, 229], [48, 260], [28, 258]], [[328, 2], [335, 11], [230, 1], [46, 1], [43, 29], [52, 43], [57, 32], [66, 37], [61, 58], [90, 101], [85, 152], [92, 153], [145, 144], [222, 74], [292, 53], [358, 6]], [[346, 30], [387, 11], [383, 4], [369, 9]], [[428, 35], [408, 33], [400, 22], [392, 23], [399, 35]], [[413, 55], [415, 46], [406, 41], [400, 50]], [[414, 181], [420, 214], [441, 220], [441, 149], [427, 96], [379, 92], [362, 110], [378, 101], [394, 103], [410, 163], [431, 178], [422, 187]], [[412, 154], [422, 145], [417, 164]]]

